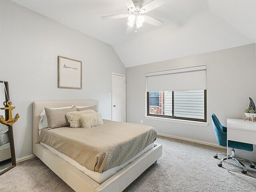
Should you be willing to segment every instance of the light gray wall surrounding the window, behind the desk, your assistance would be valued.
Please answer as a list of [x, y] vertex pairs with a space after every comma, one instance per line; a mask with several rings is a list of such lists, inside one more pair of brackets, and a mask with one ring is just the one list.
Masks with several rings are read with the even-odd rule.
[[[207, 68], [208, 127], [144, 118], [145, 73], [200, 65]], [[217, 143], [211, 114], [215, 113], [224, 125], [226, 118], [242, 119], [244, 109], [248, 108], [248, 97], [256, 101], [255, 73], [255, 44], [126, 68], [127, 122], [140, 123], [142, 119], [144, 124], [153, 126], [159, 133]]]

